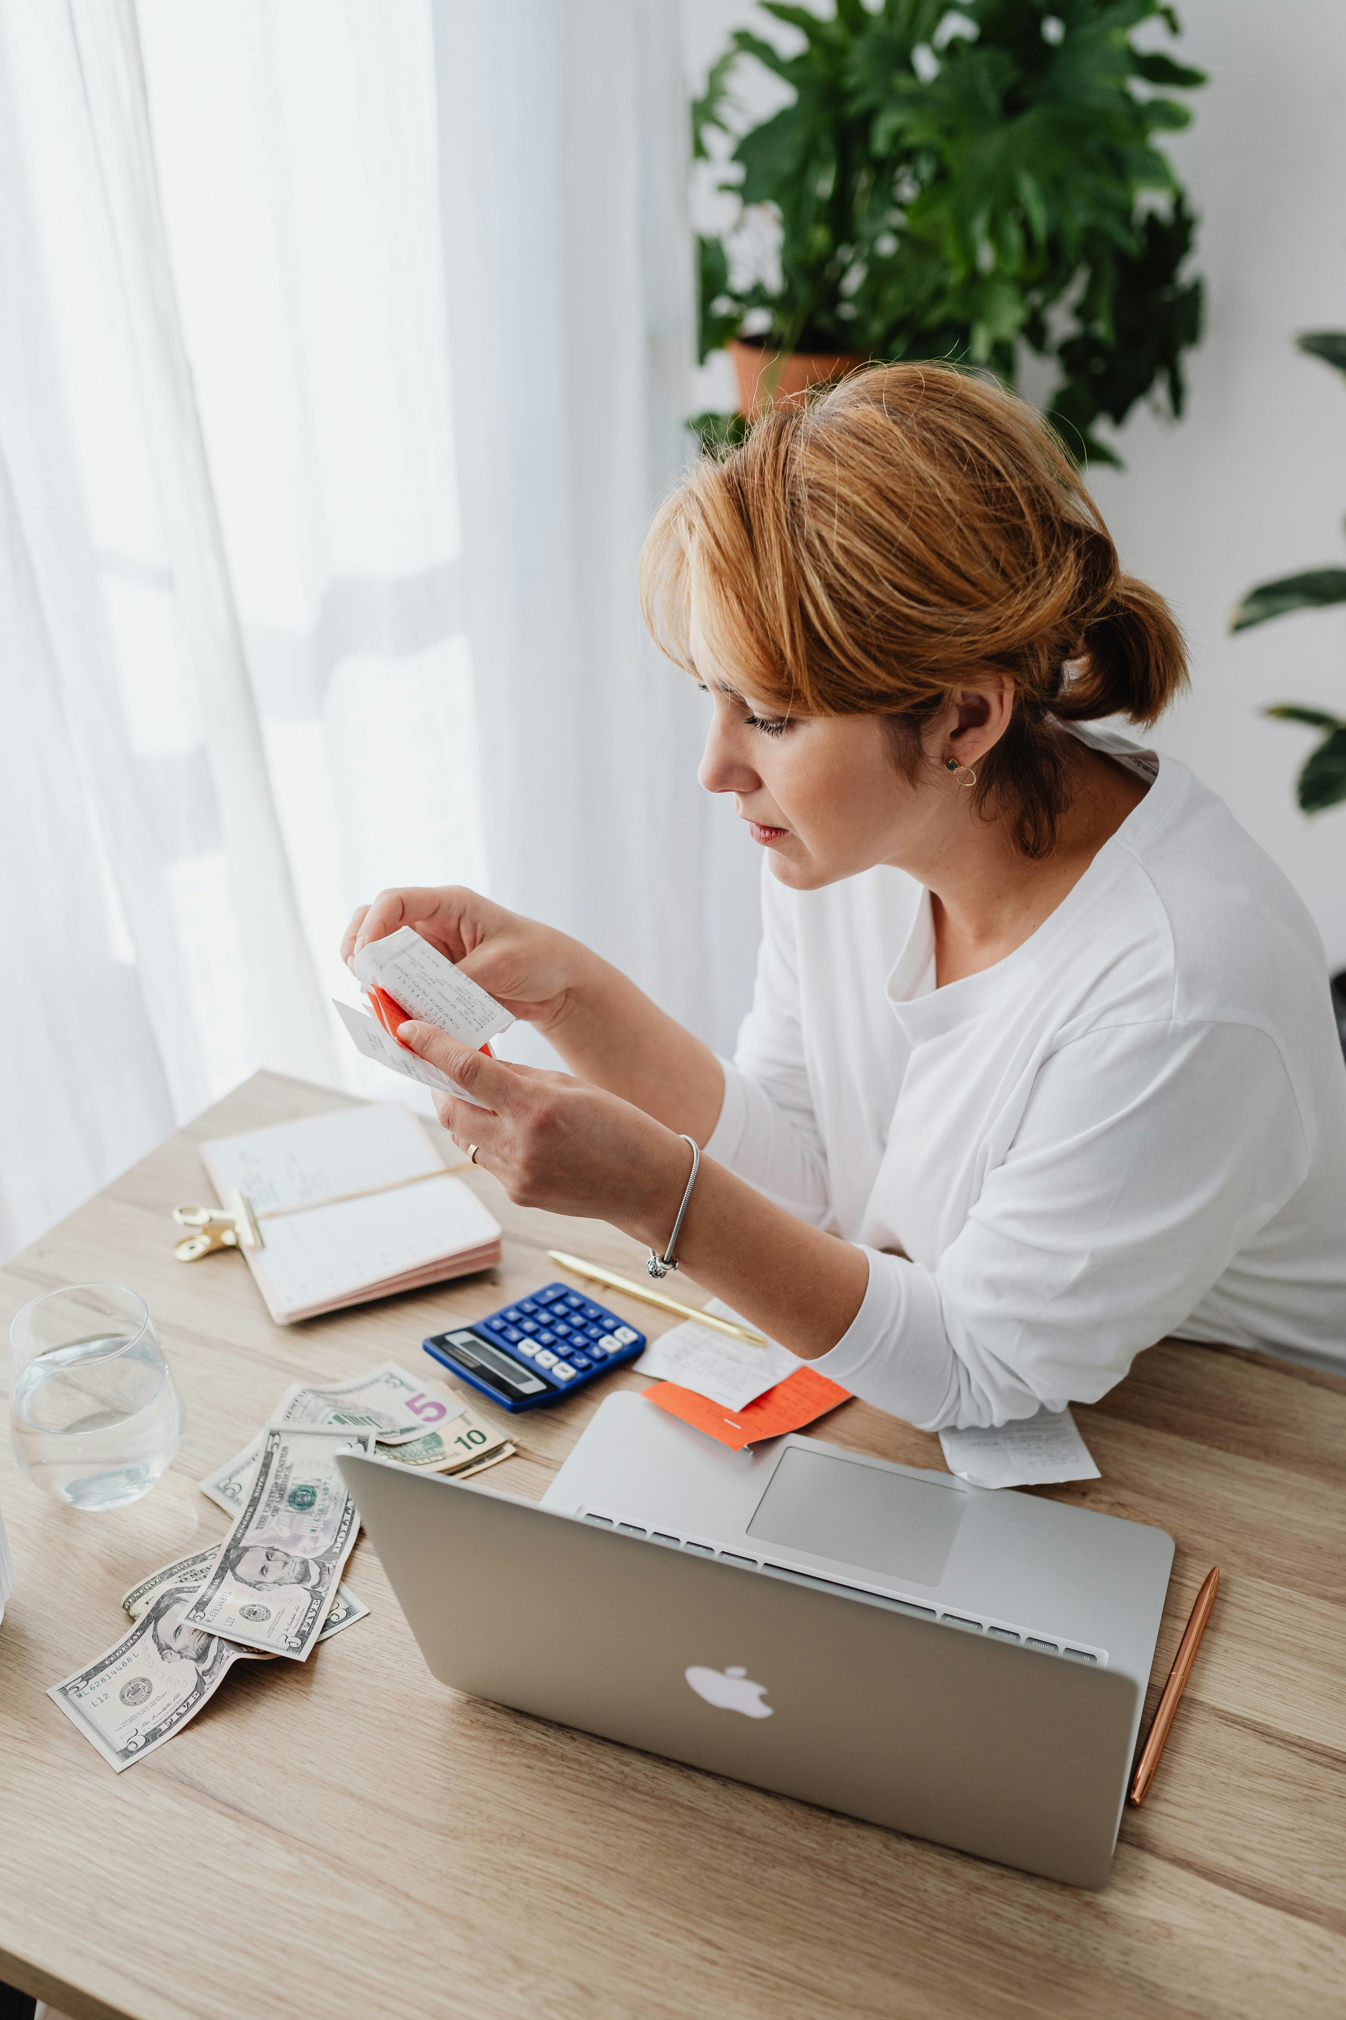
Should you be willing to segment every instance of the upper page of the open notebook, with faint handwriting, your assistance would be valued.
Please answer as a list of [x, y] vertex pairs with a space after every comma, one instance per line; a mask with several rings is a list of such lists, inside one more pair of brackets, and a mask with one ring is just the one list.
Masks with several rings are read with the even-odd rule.
[[220, 1198], [238, 1186], [254, 1214], [444, 1170], [422, 1123], [396, 1101], [216, 1137], [202, 1157]]

